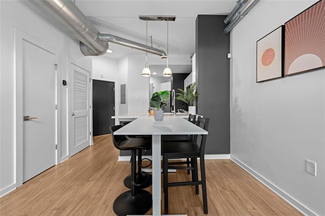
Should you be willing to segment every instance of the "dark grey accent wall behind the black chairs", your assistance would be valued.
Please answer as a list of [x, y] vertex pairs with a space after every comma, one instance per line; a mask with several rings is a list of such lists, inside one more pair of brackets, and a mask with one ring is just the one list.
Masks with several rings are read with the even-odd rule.
[[196, 20], [197, 114], [210, 118], [206, 154], [230, 154], [230, 34], [226, 16]]

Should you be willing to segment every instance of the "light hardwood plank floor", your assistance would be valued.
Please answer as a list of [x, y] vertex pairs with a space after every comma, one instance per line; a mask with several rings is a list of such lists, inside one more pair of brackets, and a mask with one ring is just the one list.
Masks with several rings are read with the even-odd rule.
[[[131, 173], [130, 164], [117, 158], [111, 135], [94, 137], [93, 146], [1, 198], [0, 215], [115, 215], [113, 202], [128, 190], [123, 179]], [[206, 175], [208, 215], [302, 215], [231, 160], [206, 160]], [[170, 181], [189, 176], [185, 170], [169, 174]], [[169, 191], [169, 213], [205, 215], [201, 191]]]

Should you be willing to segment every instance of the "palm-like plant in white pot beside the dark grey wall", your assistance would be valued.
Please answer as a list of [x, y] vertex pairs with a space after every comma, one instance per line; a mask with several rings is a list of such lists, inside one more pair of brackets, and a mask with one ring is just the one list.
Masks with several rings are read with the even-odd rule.
[[196, 83], [192, 83], [189, 88], [185, 90], [183, 89], [178, 89], [180, 91], [180, 93], [177, 93], [177, 100], [181, 100], [185, 103], [187, 103], [188, 105], [188, 113], [189, 114], [196, 114], [196, 106], [193, 106], [193, 102], [195, 100], [195, 98], [199, 95], [197, 92], [197, 84]]

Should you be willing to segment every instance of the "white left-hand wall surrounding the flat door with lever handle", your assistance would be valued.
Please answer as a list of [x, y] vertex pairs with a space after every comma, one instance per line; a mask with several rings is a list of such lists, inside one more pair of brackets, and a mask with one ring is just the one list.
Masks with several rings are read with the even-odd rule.
[[[42, 43], [60, 52], [58, 65], [61, 79], [68, 80], [67, 57], [79, 65], [91, 68], [91, 57], [84, 57], [79, 45], [66, 35], [51, 27], [34, 12], [29, 11], [21, 2], [0, 1], [0, 116], [1, 134], [0, 145], [0, 196], [16, 188], [15, 182], [15, 125], [14, 125], [14, 27], [25, 32]], [[36, 78], [36, 82], [38, 82]], [[69, 85], [69, 82], [68, 82]], [[61, 159], [68, 156], [68, 88], [61, 86]], [[3, 134], [6, 134], [5, 136]]]

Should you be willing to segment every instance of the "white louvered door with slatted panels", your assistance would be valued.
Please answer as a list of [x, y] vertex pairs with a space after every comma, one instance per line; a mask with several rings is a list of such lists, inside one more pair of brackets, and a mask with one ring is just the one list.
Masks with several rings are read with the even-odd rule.
[[90, 145], [90, 74], [71, 63], [71, 156]]

